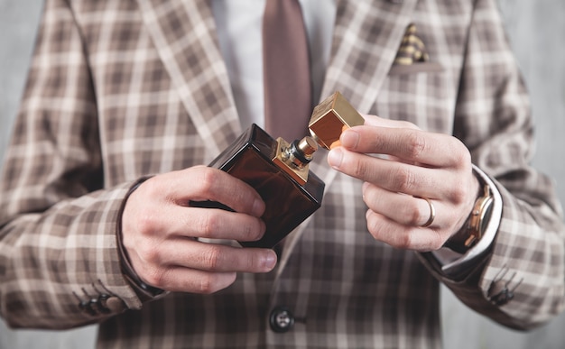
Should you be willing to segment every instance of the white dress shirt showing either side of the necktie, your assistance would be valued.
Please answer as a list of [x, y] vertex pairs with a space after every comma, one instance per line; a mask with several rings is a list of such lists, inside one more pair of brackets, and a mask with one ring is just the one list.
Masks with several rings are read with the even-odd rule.
[[[310, 46], [313, 100], [320, 99], [329, 61], [334, 0], [301, 0], [302, 16]], [[220, 50], [236, 100], [237, 113], [246, 129], [264, 126], [263, 12], [265, 0], [214, 0], [212, 11], [218, 27]]]

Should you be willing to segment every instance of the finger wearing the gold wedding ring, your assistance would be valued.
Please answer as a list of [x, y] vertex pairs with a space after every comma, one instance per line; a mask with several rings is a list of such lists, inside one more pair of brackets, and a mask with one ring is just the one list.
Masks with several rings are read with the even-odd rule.
[[424, 198], [388, 191], [367, 182], [363, 186], [363, 199], [372, 211], [400, 225], [423, 226], [430, 223], [428, 226], [432, 228], [441, 223], [435, 219], [436, 210], [441, 207], [439, 201], [431, 201], [429, 205]]

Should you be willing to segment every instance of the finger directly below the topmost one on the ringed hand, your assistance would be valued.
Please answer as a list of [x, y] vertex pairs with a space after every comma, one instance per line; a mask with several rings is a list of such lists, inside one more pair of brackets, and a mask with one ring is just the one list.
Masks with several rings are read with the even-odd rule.
[[349, 152], [343, 147], [329, 152], [329, 165], [351, 177], [398, 193], [419, 197], [450, 197], [444, 192], [458, 188], [457, 176], [448, 170], [429, 169], [398, 161], [390, 161], [358, 152]]

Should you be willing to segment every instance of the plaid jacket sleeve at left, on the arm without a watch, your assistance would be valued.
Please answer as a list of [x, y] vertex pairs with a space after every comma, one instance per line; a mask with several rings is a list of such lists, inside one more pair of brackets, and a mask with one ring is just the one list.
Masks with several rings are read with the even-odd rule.
[[0, 181], [0, 315], [68, 328], [141, 306], [120, 270], [95, 87], [67, 2], [47, 1]]

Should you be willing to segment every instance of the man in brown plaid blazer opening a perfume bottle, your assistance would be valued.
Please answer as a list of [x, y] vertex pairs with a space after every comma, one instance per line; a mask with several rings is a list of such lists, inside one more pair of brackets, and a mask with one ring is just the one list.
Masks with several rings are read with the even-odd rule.
[[314, 161], [323, 205], [278, 260], [208, 243], [268, 234], [254, 190], [199, 166], [253, 100], [226, 3], [47, 2], [2, 179], [12, 326], [100, 322], [100, 347], [436, 347], [438, 280], [506, 326], [560, 312], [560, 207], [527, 164], [527, 98], [486, 0], [329, 6], [314, 96], [341, 91], [366, 125]]

